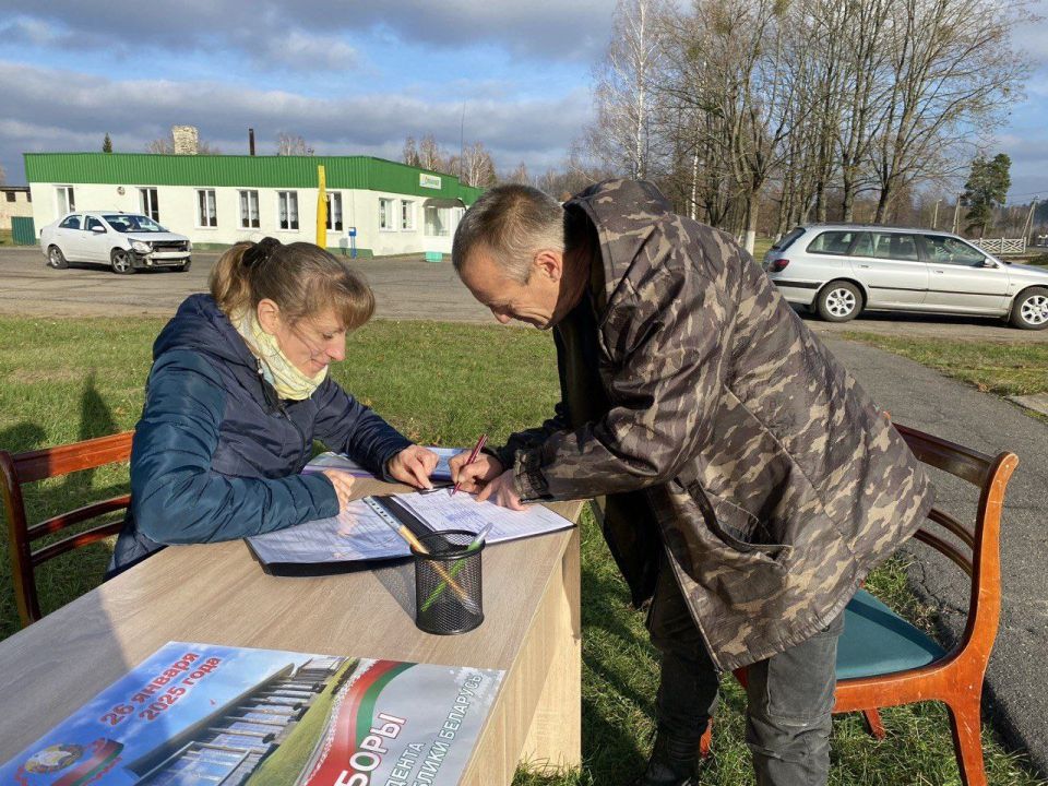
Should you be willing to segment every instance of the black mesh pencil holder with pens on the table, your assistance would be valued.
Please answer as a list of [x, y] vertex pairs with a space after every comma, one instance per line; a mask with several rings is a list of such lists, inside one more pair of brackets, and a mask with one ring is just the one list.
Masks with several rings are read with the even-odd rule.
[[476, 535], [448, 529], [419, 538], [428, 553], [415, 556], [415, 624], [438, 635], [465, 633], [484, 622], [480, 553], [471, 549]]

